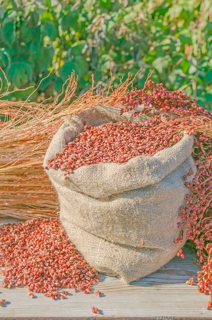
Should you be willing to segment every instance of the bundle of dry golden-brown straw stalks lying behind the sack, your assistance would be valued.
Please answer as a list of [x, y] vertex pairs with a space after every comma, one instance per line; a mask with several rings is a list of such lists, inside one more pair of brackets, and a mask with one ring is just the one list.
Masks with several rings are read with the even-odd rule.
[[[0, 216], [19, 219], [58, 217], [55, 190], [45, 174], [43, 157], [53, 135], [65, 116], [73, 116], [85, 108], [98, 104], [121, 105], [121, 98], [133, 86], [131, 75], [116, 89], [111, 80], [97, 92], [92, 87], [76, 96], [77, 80], [73, 72], [63, 92], [51, 104], [0, 100]], [[63, 86], [63, 87], [64, 87]], [[110, 92], [110, 93], [109, 93]], [[7, 93], [1, 99], [5, 98]]]

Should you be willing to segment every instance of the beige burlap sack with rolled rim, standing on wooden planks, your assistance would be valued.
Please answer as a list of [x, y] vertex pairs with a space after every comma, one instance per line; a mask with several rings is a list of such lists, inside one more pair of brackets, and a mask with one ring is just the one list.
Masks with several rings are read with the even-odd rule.
[[[60, 153], [87, 125], [117, 121], [144, 121], [145, 116], [120, 116], [120, 107], [96, 106], [67, 117], [44, 157]], [[174, 240], [179, 209], [189, 190], [182, 176], [194, 167], [193, 137], [153, 156], [137, 156], [125, 164], [83, 166], [67, 175], [48, 169], [60, 203], [60, 220], [70, 240], [99, 272], [129, 283], [147, 276], [170, 261], [185, 242]], [[194, 168], [195, 172], [195, 168]], [[193, 176], [188, 179], [192, 180]], [[138, 250], [135, 250], [135, 247]]]

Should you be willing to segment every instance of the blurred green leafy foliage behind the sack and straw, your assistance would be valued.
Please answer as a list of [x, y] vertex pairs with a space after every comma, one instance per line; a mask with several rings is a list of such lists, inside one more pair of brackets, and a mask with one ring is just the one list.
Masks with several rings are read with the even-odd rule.
[[212, 109], [211, 0], [0, 0], [0, 65], [10, 90], [37, 87], [53, 68], [31, 100], [61, 93], [72, 70], [78, 94], [91, 74], [104, 86], [113, 65], [114, 86], [143, 67], [135, 81], [143, 88], [154, 69], [153, 81]]

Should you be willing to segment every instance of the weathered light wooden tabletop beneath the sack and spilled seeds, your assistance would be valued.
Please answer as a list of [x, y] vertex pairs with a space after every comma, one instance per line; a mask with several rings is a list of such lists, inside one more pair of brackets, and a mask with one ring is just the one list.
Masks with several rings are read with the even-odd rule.
[[[212, 310], [207, 310], [209, 296], [199, 293], [196, 286], [185, 284], [199, 268], [193, 264], [193, 254], [188, 249], [184, 254], [185, 259], [175, 257], [157, 272], [130, 285], [100, 275], [101, 281], [93, 286], [92, 293], [75, 293], [69, 289], [72, 294], [64, 300], [53, 301], [41, 293], [35, 293], [36, 298], [32, 299], [25, 287], [7, 289], [0, 286], [0, 300], [7, 300], [7, 304], [0, 307], [0, 318], [212, 319]], [[0, 283], [3, 278], [0, 275]], [[100, 290], [103, 296], [94, 294], [96, 290]], [[92, 313], [91, 306], [100, 309], [101, 313]]]

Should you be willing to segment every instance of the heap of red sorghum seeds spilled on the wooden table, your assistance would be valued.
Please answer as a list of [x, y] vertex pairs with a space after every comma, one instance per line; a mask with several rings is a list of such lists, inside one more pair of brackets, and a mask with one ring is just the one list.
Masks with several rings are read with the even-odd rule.
[[32, 219], [18, 224], [4, 224], [0, 229], [0, 272], [3, 286], [27, 286], [52, 299], [64, 299], [68, 291], [87, 290], [100, 281], [98, 272], [89, 266], [66, 237], [56, 219]]

